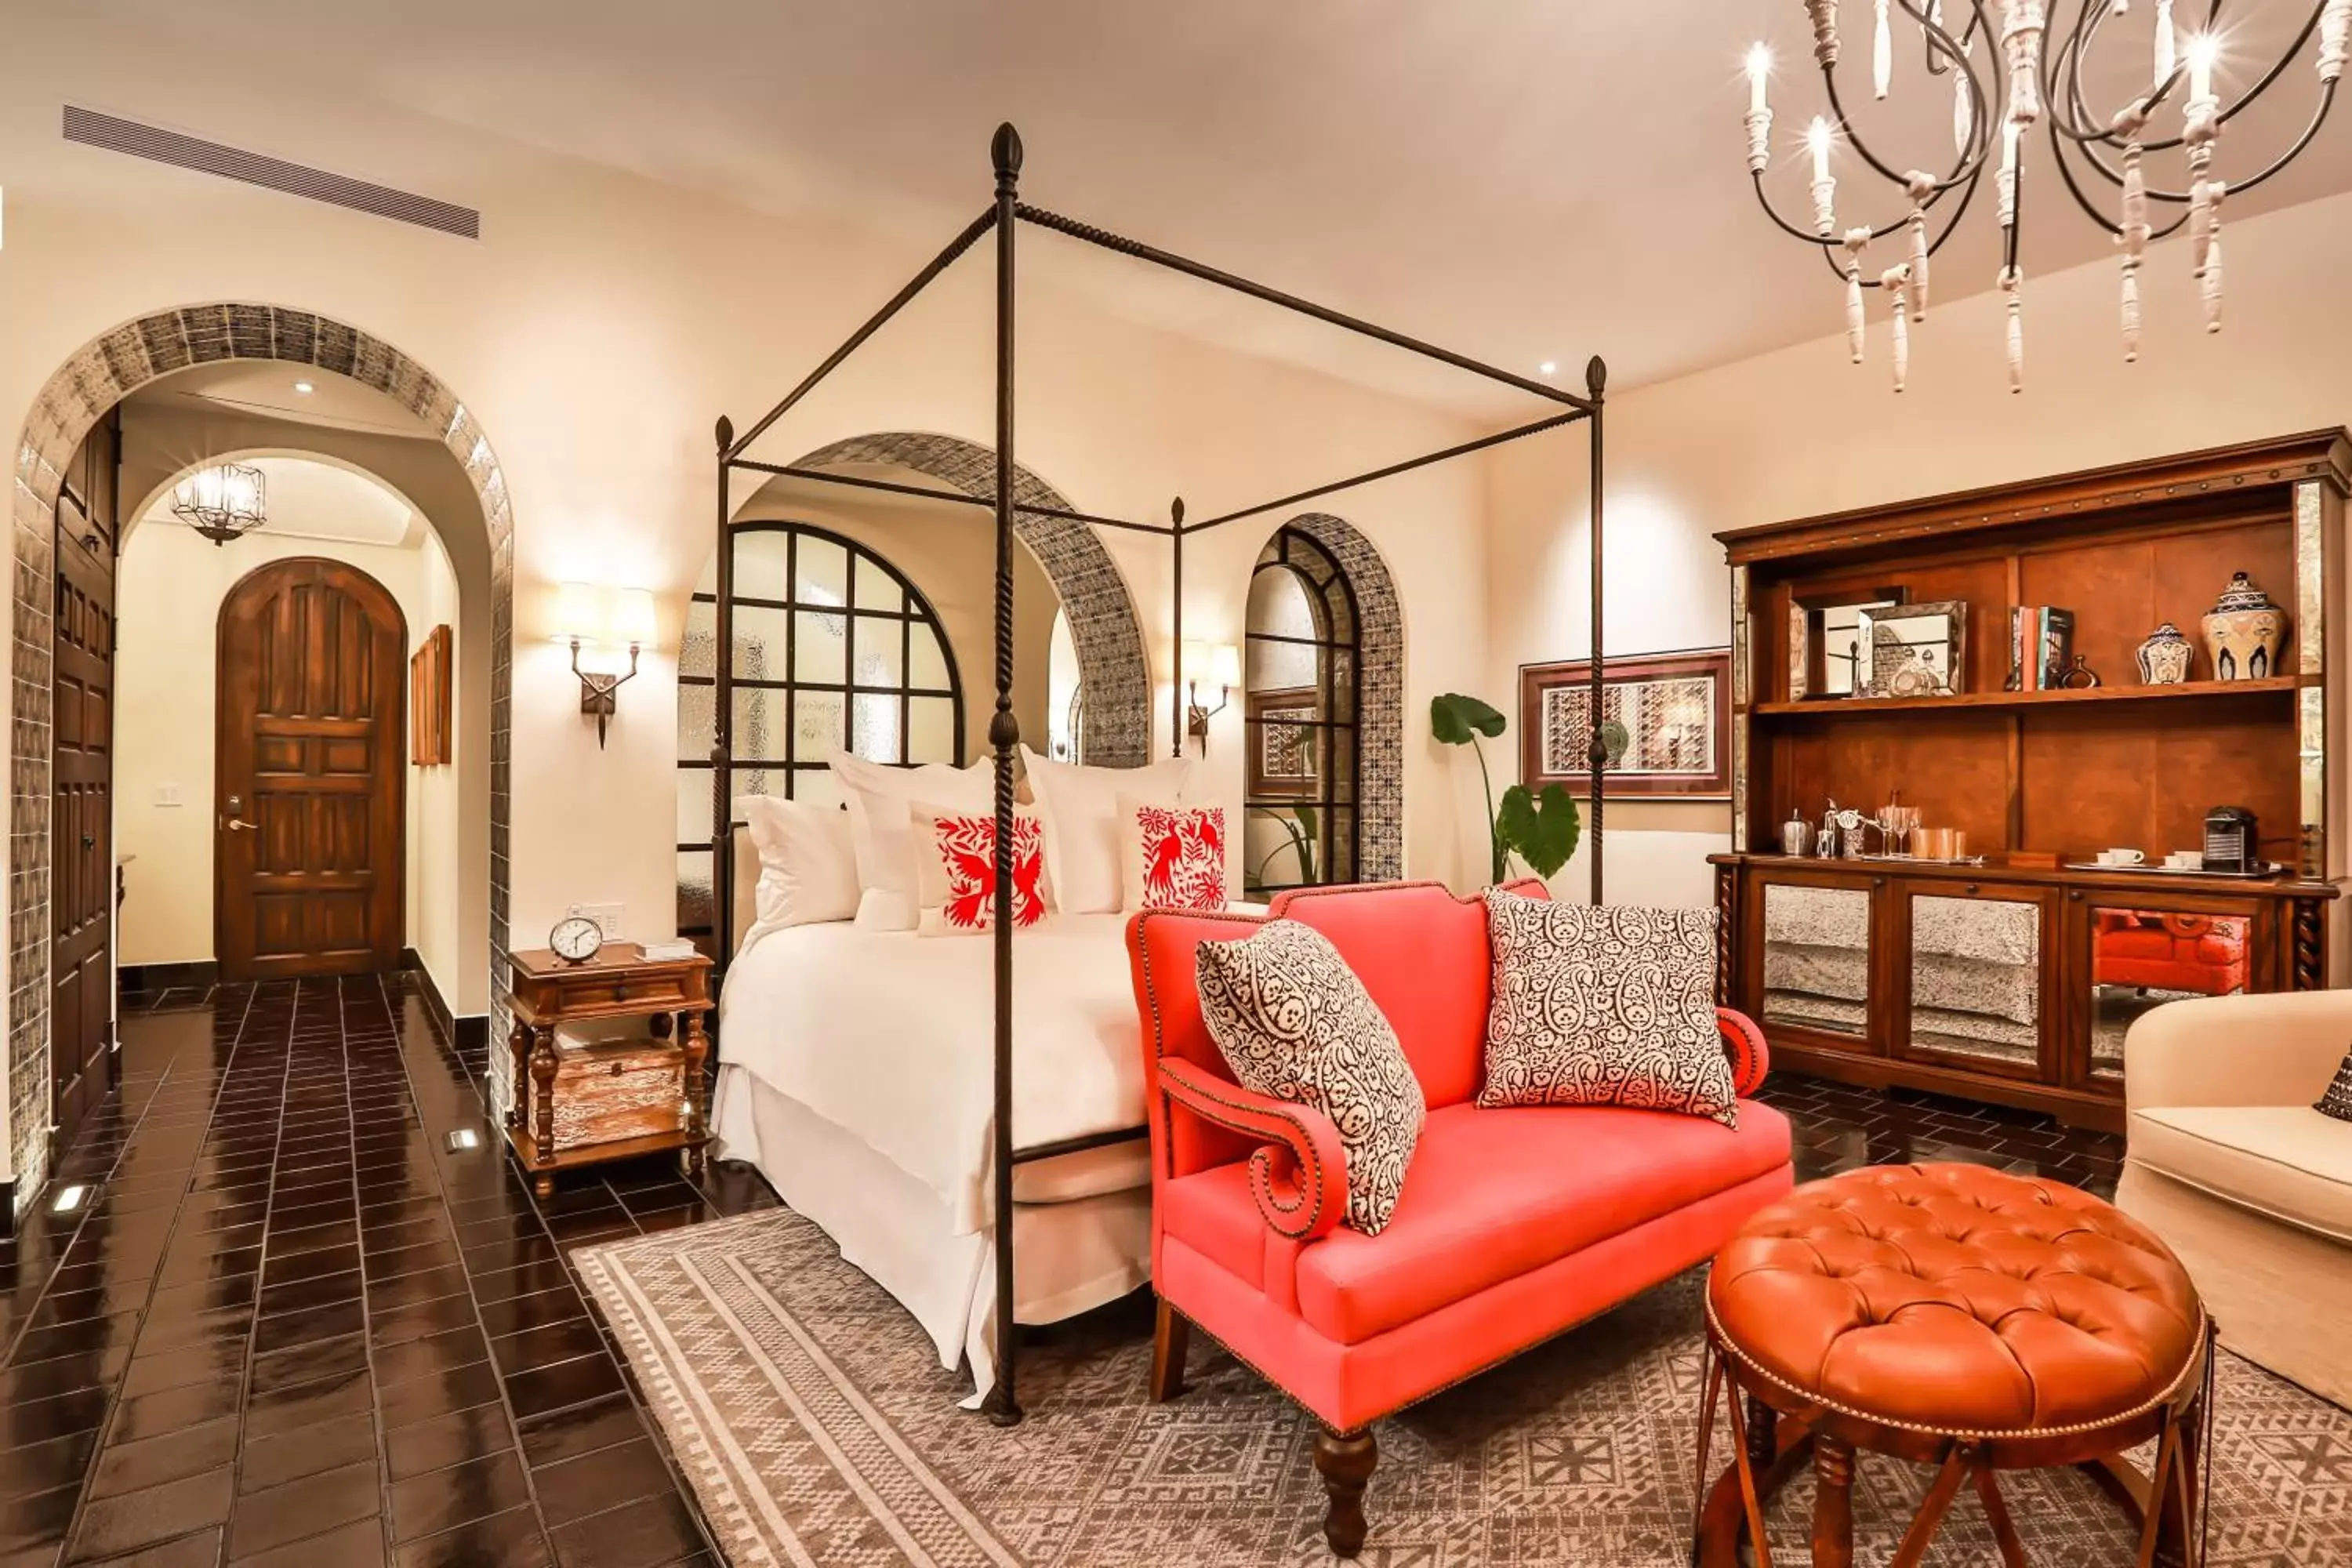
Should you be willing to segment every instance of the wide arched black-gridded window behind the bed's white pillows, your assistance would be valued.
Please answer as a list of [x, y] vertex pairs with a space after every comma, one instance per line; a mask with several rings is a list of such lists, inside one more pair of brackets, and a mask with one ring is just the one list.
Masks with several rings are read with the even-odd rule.
[[[727, 799], [840, 799], [826, 757], [962, 762], [964, 689], [938, 614], [887, 559], [804, 522], [734, 538], [734, 745]], [[710, 917], [717, 562], [677, 656], [677, 931]]]

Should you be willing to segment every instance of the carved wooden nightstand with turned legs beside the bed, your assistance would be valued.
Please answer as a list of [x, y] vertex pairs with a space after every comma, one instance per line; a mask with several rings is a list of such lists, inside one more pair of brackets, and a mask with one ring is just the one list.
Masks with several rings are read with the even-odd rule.
[[[637, 943], [607, 943], [586, 964], [567, 964], [546, 947], [517, 952], [510, 961], [515, 1030], [506, 1044], [515, 1053], [515, 1105], [506, 1112], [506, 1143], [532, 1175], [532, 1192], [553, 1197], [557, 1171], [673, 1150], [684, 1154], [689, 1175], [701, 1175], [703, 1145], [710, 1140], [703, 1126], [710, 959], [647, 959]], [[602, 1018], [647, 1018], [654, 1039], [673, 1044], [684, 1110], [670, 1131], [557, 1147], [555, 1025]]]

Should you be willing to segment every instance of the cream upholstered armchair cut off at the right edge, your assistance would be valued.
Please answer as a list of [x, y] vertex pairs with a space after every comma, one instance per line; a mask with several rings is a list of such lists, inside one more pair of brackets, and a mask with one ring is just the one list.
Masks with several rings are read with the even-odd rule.
[[2352, 1124], [2321, 1117], [2352, 992], [2199, 997], [2124, 1039], [2117, 1204], [2164, 1237], [2237, 1354], [2352, 1406]]

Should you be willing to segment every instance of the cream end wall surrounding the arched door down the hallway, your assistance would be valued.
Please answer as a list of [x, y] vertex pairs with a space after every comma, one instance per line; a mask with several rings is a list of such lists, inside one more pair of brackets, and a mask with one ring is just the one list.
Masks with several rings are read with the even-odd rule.
[[[428, 599], [423, 550], [327, 538], [254, 534], [214, 545], [193, 529], [146, 522], [132, 531], [115, 578], [115, 851], [125, 867], [120, 964], [188, 964], [214, 957], [214, 679], [221, 602], [268, 562], [327, 557], [358, 567], [400, 604], [416, 646]], [[407, 736], [395, 757], [407, 769]], [[407, 769], [407, 931], [419, 929], [419, 896], [433, 882], [421, 865], [416, 769]], [[176, 788], [181, 804], [160, 802]], [[454, 903], [452, 867], [435, 889]]]

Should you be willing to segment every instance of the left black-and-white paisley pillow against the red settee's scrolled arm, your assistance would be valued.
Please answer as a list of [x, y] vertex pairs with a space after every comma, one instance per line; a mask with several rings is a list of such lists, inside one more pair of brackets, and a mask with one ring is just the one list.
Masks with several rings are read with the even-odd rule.
[[1421, 1140], [1421, 1084], [1364, 983], [1294, 919], [1202, 943], [1200, 1013], [1232, 1077], [1331, 1117], [1348, 1152], [1348, 1225], [1378, 1237]]

